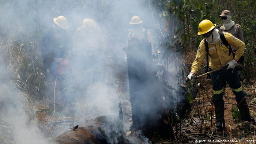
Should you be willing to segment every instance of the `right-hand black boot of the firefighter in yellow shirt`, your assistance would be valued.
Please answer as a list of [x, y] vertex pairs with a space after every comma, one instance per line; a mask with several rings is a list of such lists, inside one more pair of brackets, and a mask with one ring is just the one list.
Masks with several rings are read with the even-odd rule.
[[240, 101], [237, 100], [237, 107], [240, 110], [242, 120], [248, 121], [248, 122], [255, 122], [254, 118], [250, 114], [250, 110], [247, 105], [245, 97]]

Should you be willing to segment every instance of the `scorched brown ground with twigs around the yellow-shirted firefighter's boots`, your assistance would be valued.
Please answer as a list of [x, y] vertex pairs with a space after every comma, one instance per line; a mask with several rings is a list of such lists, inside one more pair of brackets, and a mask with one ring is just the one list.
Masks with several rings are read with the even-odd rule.
[[[208, 82], [208, 80], [207, 80]], [[232, 117], [234, 107], [236, 106], [235, 96], [230, 88], [227, 88], [223, 99], [225, 101], [225, 121], [228, 136], [214, 133], [215, 115], [214, 107], [211, 103], [210, 85], [206, 84], [200, 88], [197, 98], [193, 101], [193, 109], [191, 115], [178, 123], [176, 127], [176, 140], [178, 143], [195, 143], [195, 140], [237, 140], [247, 139], [254, 140], [256, 126], [245, 122], [235, 121]], [[207, 91], [208, 93], [204, 92]], [[245, 88], [246, 91], [246, 88]], [[248, 91], [252, 93], [253, 91]], [[255, 92], [255, 91], [254, 91]], [[210, 95], [209, 95], [210, 94]], [[251, 114], [255, 114], [255, 94], [254, 96], [246, 97]], [[212, 111], [212, 114], [211, 114]], [[204, 118], [204, 120], [202, 120]], [[211, 121], [212, 118], [212, 121]]]

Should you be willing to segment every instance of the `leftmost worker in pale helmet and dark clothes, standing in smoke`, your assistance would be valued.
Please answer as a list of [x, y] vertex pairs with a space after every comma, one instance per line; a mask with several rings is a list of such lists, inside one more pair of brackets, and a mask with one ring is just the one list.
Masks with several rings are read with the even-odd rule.
[[[70, 74], [69, 58], [72, 51], [72, 41], [68, 34], [68, 20], [64, 16], [53, 19], [53, 26], [46, 31], [41, 41], [41, 53], [43, 57], [43, 70], [46, 77], [47, 86], [44, 90], [50, 99], [53, 98], [54, 90], [59, 90], [56, 103], [64, 105], [66, 94], [67, 75]], [[54, 81], [58, 82], [57, 84]], [[55, 89], [56, 87], [56, 89]]]

